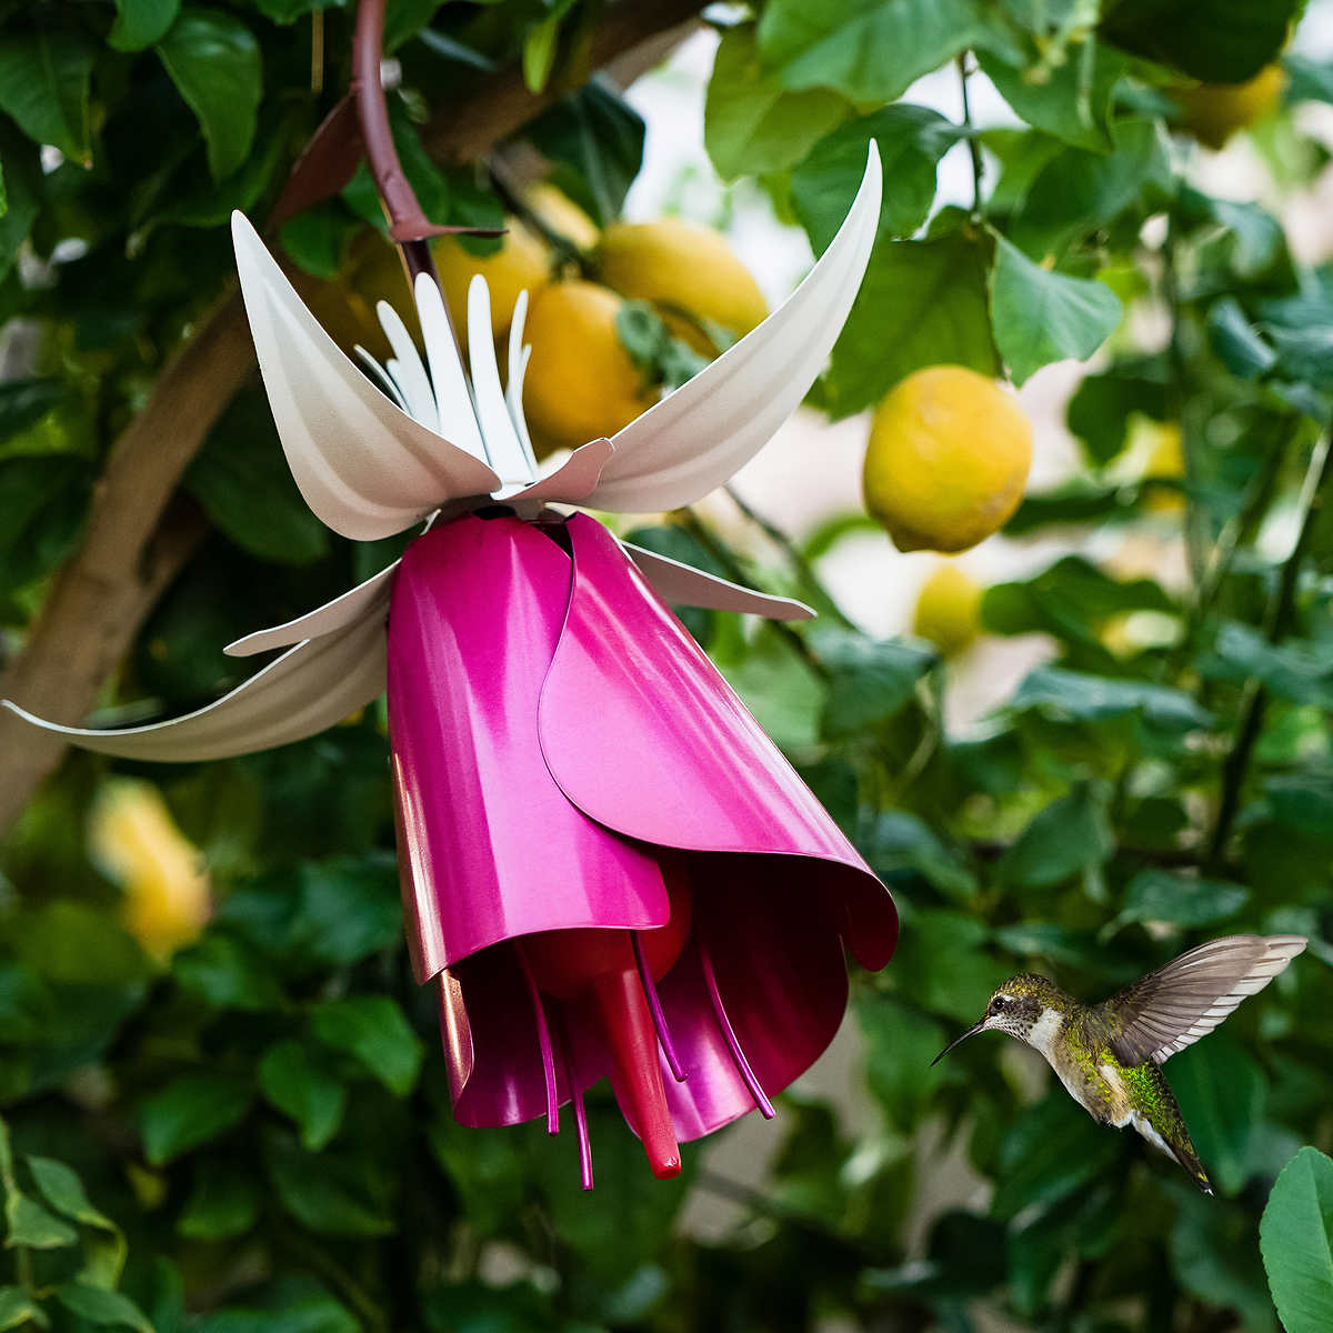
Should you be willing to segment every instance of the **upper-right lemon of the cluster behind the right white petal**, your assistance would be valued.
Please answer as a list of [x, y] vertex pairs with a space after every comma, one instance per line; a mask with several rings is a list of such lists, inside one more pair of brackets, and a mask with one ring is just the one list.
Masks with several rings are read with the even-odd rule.
[[740, 337], [768, 316], [749, 269], [706, 227], [674, 217], [615, 223], [601, 233], [593, 261], [603, 283], [660, 307], [672, 332], [704, 356], [720, 348], [698, 321]]

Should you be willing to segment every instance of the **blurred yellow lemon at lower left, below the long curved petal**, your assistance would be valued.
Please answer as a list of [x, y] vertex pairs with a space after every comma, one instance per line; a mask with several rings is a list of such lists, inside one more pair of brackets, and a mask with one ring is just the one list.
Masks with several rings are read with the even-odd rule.
[[123, 885], [125, 929], [145, 953], [165, 960], [199, 937], [212, 909], [208, 872], [157, 788], [112, 782], [93, 808], [88, 841]]

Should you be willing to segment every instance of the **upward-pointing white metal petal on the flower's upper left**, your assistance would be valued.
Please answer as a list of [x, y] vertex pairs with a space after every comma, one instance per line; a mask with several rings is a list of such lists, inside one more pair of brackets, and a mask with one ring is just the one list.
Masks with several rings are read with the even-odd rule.
[[371, 540], [500, 479], [413, 421], [339, 351], [255, 228], [232, 215], [236, 268], [264, 387], [292, 476], [335, 532]]

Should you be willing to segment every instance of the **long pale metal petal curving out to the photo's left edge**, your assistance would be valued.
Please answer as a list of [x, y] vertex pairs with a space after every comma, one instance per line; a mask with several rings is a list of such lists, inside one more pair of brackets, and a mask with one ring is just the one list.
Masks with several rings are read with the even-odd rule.
[[217, 702], [167, 722], [95, 730], [57, 726], [8, 700], [0, 700], [0, 706], [83, 749], [196, 762], [251, 754], [323, 732], [384, 692], [384, 624], [365, 617], [299, 644]]

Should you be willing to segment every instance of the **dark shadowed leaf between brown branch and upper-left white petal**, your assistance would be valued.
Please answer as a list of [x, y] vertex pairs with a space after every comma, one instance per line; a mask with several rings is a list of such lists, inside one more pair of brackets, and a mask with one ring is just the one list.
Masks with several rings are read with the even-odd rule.
[[328, 529], [301, 499], [257, 388], [232, 400], [183, 485], [236, 545], [261, 560], [307, 565], [328, 553]]

